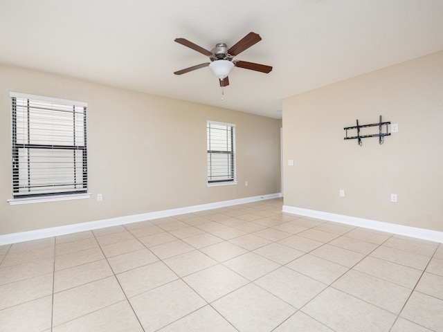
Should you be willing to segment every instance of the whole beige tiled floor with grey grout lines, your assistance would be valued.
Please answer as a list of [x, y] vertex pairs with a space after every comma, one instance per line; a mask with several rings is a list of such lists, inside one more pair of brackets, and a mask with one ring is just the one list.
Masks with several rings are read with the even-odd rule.
[[0, 331], [443, 331], [443, 244], [272, 199], [0, 246]]

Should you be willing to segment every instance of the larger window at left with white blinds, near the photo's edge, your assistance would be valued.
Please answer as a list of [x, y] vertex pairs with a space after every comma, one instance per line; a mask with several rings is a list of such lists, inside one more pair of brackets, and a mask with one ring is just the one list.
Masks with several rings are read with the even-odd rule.
[[14, 199], [87, 192], [87, 103], [10, 93]]

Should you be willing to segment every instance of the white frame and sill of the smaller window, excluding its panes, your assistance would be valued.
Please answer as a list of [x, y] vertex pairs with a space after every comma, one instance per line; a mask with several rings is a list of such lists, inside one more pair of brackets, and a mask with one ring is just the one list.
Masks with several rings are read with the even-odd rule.
[[[210, 142], [210, 124], [215, 124], [218, 126], [230, 127], [230, 149], [231, 151], [222, 151], [222, 150], [210, 150], [209, 142]], [[206, 174], [206, 185], [208, 187], [215, 187], [221, 185], [237, 185], [237, 151], [236, 151], [236, 125], [227, 122], [219, 122], [213, 120], [206, 121], [206, 160], [207, 160], [207, 174]], [[230, 155], [230, 166], [229, 169], [232, 169], [232, 174], [229, 174], [231, 178], [222, 179], [222, 180], [212, 180], [210, 181], [210, 156], [211, 154], [229, 154]]]

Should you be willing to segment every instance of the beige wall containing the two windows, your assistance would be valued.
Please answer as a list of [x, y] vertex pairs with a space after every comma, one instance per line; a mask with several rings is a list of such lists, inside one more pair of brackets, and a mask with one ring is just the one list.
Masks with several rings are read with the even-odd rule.
[[[7, 203], [10, 91], [89, 103], [90, 199]], [[206, 186], [206, 120], [236, 124], [238, 185]], [[278, 193], [280, 125], [272, 118], [0, 66], [0, 234]]]

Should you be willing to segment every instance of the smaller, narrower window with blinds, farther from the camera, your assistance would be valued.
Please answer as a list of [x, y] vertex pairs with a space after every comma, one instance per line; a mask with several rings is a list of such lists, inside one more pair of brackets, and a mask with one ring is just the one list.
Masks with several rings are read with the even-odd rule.
[[208, 184], [235, 181], [235, 124], [208, 121]]

